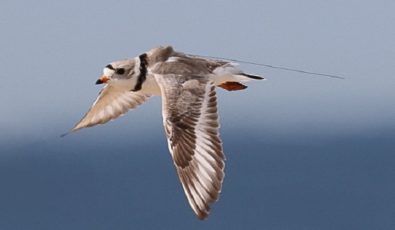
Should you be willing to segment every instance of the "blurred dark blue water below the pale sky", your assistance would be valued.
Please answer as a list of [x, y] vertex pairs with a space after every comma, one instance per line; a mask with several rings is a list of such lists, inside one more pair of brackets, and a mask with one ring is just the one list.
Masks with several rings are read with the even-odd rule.
[[164, 138], [76, 134], [3, 145], [0, 228], [393, 229], [394, 134], [278, 141], [225, 133], [224, 188], [203, 222]]

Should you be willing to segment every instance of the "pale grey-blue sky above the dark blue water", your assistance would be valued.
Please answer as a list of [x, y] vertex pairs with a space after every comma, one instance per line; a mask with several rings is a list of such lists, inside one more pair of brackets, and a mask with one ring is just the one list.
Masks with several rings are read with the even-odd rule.
[[[36, 136], [43, 121], [53, 132], [68, 129], [95, 99], [99, 88], [92, 84], [103, 66], [165, 44], [347, 78], [242, 65], [268, 81], [233, 95], [220, 92], [228, 119], [248, 117], [254, 126], [276, 125], [275, 130], [311, 123], [352, 130], [393, 124], [393, 6], [391, 1], [118, 1], [111, 7], [105, 1], [3, 2], [0, 100], [7, 106], [0, 124], [11, 132], [3, 138]], [[240, 117], [228, 115], [231, 104], [240, 108]]]

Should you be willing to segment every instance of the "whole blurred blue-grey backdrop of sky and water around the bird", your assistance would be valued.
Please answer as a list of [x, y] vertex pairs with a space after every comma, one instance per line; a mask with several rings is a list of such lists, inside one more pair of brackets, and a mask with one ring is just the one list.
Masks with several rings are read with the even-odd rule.
[[[0, 229], [395, 229], [394, 1], [0, 3]], [[60, 138], [107, 63], [158, 45], [241, 65], [219, 94], [227, 155], [208, 220], [191, 211], [159, 98]]]

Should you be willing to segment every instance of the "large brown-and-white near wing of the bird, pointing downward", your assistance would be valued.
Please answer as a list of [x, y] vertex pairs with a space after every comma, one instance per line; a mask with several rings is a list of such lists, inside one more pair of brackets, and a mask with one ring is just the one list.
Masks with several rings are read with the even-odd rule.
[[168, 146], [193, 211], [207, 217], [224, 178], [214, 84], [205, 77], [155, 75]]

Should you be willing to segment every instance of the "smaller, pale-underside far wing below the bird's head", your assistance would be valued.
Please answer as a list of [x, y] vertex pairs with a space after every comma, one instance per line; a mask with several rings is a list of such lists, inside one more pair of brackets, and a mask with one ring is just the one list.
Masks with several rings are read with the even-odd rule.
[[78, 122], [70, 132], [97, 124], [104, 124], [143, 104], [149, 95], [127, 89], [106, 85], [99, 93], [96, 101], [89, 111]]

